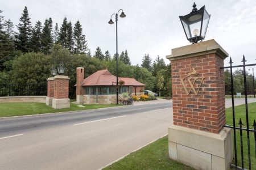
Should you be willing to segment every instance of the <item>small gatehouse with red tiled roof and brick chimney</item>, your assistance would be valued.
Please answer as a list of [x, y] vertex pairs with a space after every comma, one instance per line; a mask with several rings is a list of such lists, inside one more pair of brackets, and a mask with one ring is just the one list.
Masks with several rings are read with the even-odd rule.
[[[84, 68], [77, 67], [76, 94], [77, 102], [85, 104], [111, 104], [116, 102], [116, 79], [108, 69], [99, 70], [84, 79]], [[118, 87], [119, 95], [128, 92], [130, 95], [144, 94], [145, 84], [134, 78], [118, 77], [125, 84]]]

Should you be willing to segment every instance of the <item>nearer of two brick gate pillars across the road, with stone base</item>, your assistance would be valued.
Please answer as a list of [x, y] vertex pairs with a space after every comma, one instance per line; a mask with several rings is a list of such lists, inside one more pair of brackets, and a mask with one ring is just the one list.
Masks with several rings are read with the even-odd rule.
[[65, 75], [54, 76], [54, 99], [52, 107], [55, 109], [63, 109], [70, 107], [68, 98], [69, 77]]

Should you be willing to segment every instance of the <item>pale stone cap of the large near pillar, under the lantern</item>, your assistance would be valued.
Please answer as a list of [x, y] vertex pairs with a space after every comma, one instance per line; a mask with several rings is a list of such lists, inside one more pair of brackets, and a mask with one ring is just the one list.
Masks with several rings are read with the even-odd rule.
[[217, 56], [225, 59], [229, 54], [215, 41], [208, 40], [199, 43], [181, 46], [172, 49], [172, 54], [166, 56], [170, 61], [175, 59], [183, 59], [188, 57], [203, 56], [206, 54], [216, 53]]

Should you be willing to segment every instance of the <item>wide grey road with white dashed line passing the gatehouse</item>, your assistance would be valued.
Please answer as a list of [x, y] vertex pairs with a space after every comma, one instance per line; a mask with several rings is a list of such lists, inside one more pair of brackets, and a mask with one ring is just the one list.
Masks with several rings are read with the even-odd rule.
[[171, 102], [3, 118], [0, 169], [99, 169], [166, 135], [171, 123]]

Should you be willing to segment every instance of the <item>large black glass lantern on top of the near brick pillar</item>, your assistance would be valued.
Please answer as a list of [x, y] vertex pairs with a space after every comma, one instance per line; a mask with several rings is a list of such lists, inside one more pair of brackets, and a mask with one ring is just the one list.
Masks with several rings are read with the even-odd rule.
[[189, 42], [197, 43], [205, 38], [210, 15], [205, 10], [205, 6], [197, 10], [196, 4], [193, 4], [193, 10], [188, 15], [179, 16], [184, 32]]

